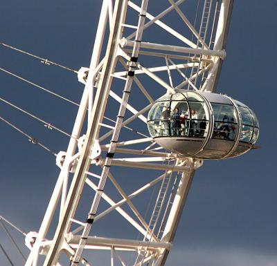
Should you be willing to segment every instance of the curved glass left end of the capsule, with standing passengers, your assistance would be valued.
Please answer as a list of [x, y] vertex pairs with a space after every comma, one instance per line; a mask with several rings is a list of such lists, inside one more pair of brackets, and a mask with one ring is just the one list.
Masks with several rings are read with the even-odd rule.
[[208, 108], [202, 97], [193, 92], [166, 95], [151, 108], [148, 129], [152, 137], [206, 137]]

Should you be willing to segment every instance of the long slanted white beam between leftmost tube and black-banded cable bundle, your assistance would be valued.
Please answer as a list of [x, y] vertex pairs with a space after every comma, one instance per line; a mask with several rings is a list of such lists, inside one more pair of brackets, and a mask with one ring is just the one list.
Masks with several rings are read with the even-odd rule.
[[62, 214], [62, 218], [60, 219], [59, 225], [57, 226], [57, 230], [53, 238], [53, 244], [50, 247], [48, 255], [46, 256], [46, 260], [44, 261], [44, 266], [51, 266], [57, 263], [59, 252], [64, 242], [64, 236], [69, 231], [71, 226], [70, 218], [74, 216], [80, 200], [80, 193], [86, 180], [85, 172], [89, 169], [90, 164], [89, 154], [91, 153], [91, 147], [93, 147], [95, 140], [98, 140], [98, 134], [100, 131], [99, 123], [102, 122], [105, 106], [107, 104], [109, 89], [112, 81], [111, 73], [114, 72], [114, 68], [116, 66], [116, 40], [120, 39], [120, 36], [122, 35], [123, 29], [120, 25], [122, 25], [125, 21], [126, 6], [125, 1], [116, 1], [114, 6], [114, 9], [116, 10], [114, 12], [114, 28], [112, 28], [111, 35], [109, 37], [109, 44], [105, 55], [105, 64], [102, 68], [102, 79], [100, 80], [96, 98], [94, 100], [91, 120], [87, 131], [87, 139], [84, 142], [80, 162], [66, 198], [64, 212]]

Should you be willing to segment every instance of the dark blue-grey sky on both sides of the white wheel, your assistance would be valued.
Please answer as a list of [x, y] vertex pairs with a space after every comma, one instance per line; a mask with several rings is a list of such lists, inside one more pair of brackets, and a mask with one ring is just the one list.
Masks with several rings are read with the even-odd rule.
[[[78, 70], [89, 65], [99, 10], [100, 1], [3, 0], [0, 41]], [[235, 1], [218, 91], [255, 111], [261, 148], [240, 158], [204, 162], [195, 174], [168, 265], [276, 265], [276, 12], [274, 0]], [[1, 68], [80, 101], [83, 85], [73, 73], [3, 47], [0, 58]], [[0, 97], [71, 132], [75, 106], [1, 71], [0, 88]], [[67, 137], [6, 104], [0, 104], [0, 115], [53, 151], [66, 149]], [[0, 132], [0, 214], [26, 232], [37, 231], [59, 172], [55, 158], [3, 122]], [[14, 235], [28, 254], [24, 238]], [[2, 231], [0, 243], [21, 265]], [[1, 266], [8, 265], [1, 252], [0, 258]]]

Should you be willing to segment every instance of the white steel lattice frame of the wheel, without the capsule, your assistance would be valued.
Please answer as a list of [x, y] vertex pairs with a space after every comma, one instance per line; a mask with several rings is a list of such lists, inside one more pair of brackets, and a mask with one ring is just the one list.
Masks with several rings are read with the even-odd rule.
[[[143, 0], [140, 2], [142, 8], [146, 8], [148, 1]], [[161, 95], [163, 93], [175, 93], [175, 88], [184, 88], [184, 86], [190, 86], [190, 88], [199, 91], [215, 91], [217, 79], [222, 67], [222, 61], [226, 56], [226, 36], [229, 28], [233, 0], [216, 1], [218, 12], [215, 12], [214, 19], [210, 19], [210, 21], [213, 21], [213, 34], [215, 35], [213, 48], [211, 48], [210, 44], [206, 43], [206, 36], [205, 38], [202, 38], [199, 30], [193, 26], [192, 22], [188, 21], [184, 12], [181, 11], [181, 6], [186, 4], [185, 0], [179, 0], [176, 2], [168, 0], [166, 2], [168, 2], [168, 8], [156, 16], [152, 15], [151, 10], [145, 12], [147, 20], [145, 21], [144, 26], [142, 23], [139, 24], [141, 26], [138, 27], [128, 24], [125, 19], [129, 8], [136, 10], [136, 12], [141, 13], [141, 16], [144, 17], [143, 9], [141, 10], [140, 6], [137, 6], [133, 1], [127, 0], [102, 1], [102, 9], [100, 12], [89, 72], [86, 76], [82, 73], [81, 69], [78, 74], [79, 77], [84, 77], [85, 86], [78, 115], [75, 119], [75, 124], [71, 134], [72, 137], [66, 151], [66, 157], [62, 164], [60, 175], [55, 184], [55, 189], [51, 196], [51, 200], [49, 201], [48, 208], [46, 209], [44, 219], [42, 220], [42, 225], [36, 236], [35, 244], [28, 256], [26, 266], [37, 266], [39, 254], [46, 255], [44, 266], [59, 265], [58, 261], [62, 252], [71, 259], [75, 257], [75, 250], [76, 248], [78, 249], [80, 245], [80, 238], [83, 238], [83, 236], [78, 235], [78, 232], [82, 231], [86, 226], [86, 222], [81, 222], [74, 218], [75, 211], [78, 208], [80, 195], [85, 185], [91, 187], [96, 195], [99, 193], [102, 200], [105, 200], [111, 205], [111, 207], [105, 211], [95, 213], [93, 216], [93, 222], [100, 220], [111, 211], [117, 211], [129, 222], [130, 225], [132, 225], [132, 227], [136, 228], [136, 230], [143, 235], [143, 240], [87, 236], [84, 240], [84, 249], [110, 250], [111, 265], [115, 264], [115, 260], [118, 260], [121, 265], [127, 265], [123, 261], [122, 256], [120, 256], [119, 251], [130, 251], [133, 252], [133, 254], [135, 251], [136, 254], [139, 255], [132, 265], [150, 263], [151, 265], [160, 266], [166, 263], [166, 258], [172, 247], [172, 240], [174, 239], [177, 230], [181, 211], [184, 208], [186, 196], [188, 195], [188, 190], [193, 180], [195, 169], [202, 165], [202, 161], [193, 158], [179, 158], [179, 155], [177, 154], [163, 151], [160, 147], [155, 146], [151, 137], [144, 137], [136, 140], [130, 139], [117, 143], [116, 153], [125, 155], [130, 154], [135, 157], [111, 157], [106, 158], [105, 160], [105, 158], [101, 157], [102, 153], [108, 151], [112, 144], [105, 144], [104, 142], [114, 133], [117, 124], [116, 126], [105, 124], [102, 122], [103, 116], [107, 108], [107, 101], [112, 97], [116, 99], [121, 106], [124, 106], [124, 108], [127, 108], [127, 110], [133, 113], [133, 115], [124, 120], [119, 127], [127, 126], [129, 123], [136, 120], [141, 120], [144, 123], [147, 122], [147, 112], [150, 110], [155, 99], [151, 96], [150, 90], [143, 85], [143, 82], [141, 82], [136, 75], [150, 77], [152, 81], [163, 87], [164, 91], [161, 92]], [[204, 8], [206, 5], [212, 4], [212, 0], [203, 0], [202, 2]], [[161, 21], [161, 19], [170, 12], [176, 12], [181, 20], [184, 21], [184, 24], [190, 29], [190, 33], [196, 37], [197, 44], [191, 41], [189, 36], [182, 35], [172, 26]], [[208, 15], [210, 16], [210, 13]], [[136, 41], [134, 40], [136, 30], [141, 30], [142, 33], [143, 30], [150, 28], [152, 25], [159, 26], [162, 30], [178, 39], [178, 41], [182, 41], [184, 46], [172, 46], [168, 44], [141, 41], [140, 48], [137, 50], [139, 55], [143, 55], [143, 57], [163, 58], [165, 60], [165, 65], [148, 68], [144, 66], [142, 61], [140, 61], [140, 57], [137, 62], [136, 59], [131, 58], [132, 50], [128, 50], [127, 47], [134, 48], [134, 45], [136, 45]], [[124, 37], [123, 34], [125, 28], [134, 29], [134, 33]], [[105, 32], [107, 30], [109, 30], [107, 51], [105, 57], [100, 61], [102, 46], [105, 42]], [[183, 63], [175, 64], [173, 60], [182, 60]], [[127, 104], [127, 102], [123, 102], [123, 99], [119, 95], [114, 91], [111, 91], [111, 85], [115, 80], [127, 82], [129, 78], [126, 76], [125, 71], [116, 70], [116, 65], [118, 63], [122, 64], [128, 71], [131, 70], [131, 72], [132, 69], [136, 67], [132, 79], [134, 79], [134, 82], [139, 87], [144, 97], [148, 99], [149, 104], [144, 108], [137, 108], [136, 106]], [[197, 68], [197, 73], [191, 72], [191, 75], [186, 75], [182, 71], [184, 69], [191, 70], [193, 68]], [[184, 82], [174, 85], [174, 78], [171, 75], [172, 71], [179, 73], [179, 75], [184, 78]], [[159, 73], [161, 72], [168, 73], [168, 82], [159, 77]], [[131, 74], [132, 73], [128, 73], [128, 75]], [[197, 84], [197, 79], [200, 77], [202, 77], [203, 82], [202, 84]], [[93, 93], [93, 91], [95, 91], [94, 88], [96, 88], [96, 93]], [[80, 132], [83, 128], [84, 119], [87, 113], [88, 128], [86, 137], [82, 144], [82, 149], [77, 151], [77, 140], [80, 137]], [[109, 131], [107, 132], [106, 130], [106, 133], [101, 133], [103, 128], [109, 129]], [[137, 149], [136, 145], [138, 144], [147, 144], [149, 146], [145, 149]], [[125, 146], [131, 146], [131, 148], [127, 149]], [[73, 162], [77, 163], [76, 158], [78, 158], [78, 164], [73, 179], [71, 180], [69, 179], [70, 171]], [[93, 169], [96, 167], [104, 167], [105, 169], [105, 163], [107, 163], [107, 160], [113, 167], [149, 169], [151, 173], [159, 170], [165, 171], [165, 173], [152, 178], [150, 182], [146, 183], [139, 189], [135, 189], [132, 193], [127, 195], [124, 189], [120, 187], [120, 184], [116, 181], [116, 177], [112, 175], [111, 172], [113, 167], [111, 167], [111, 171], [105, 170], [107, 171], [109, 180], [111, 180], [114, 187], [122, 196], [122, 200], [116, 202], [112, 200], [111, 196], [109, 196], [109, 191], [105, 191], [105, 187], [102, 187], [103, 191], [100, 191], [98, 184], [93, 182], [93, 180], [101, 180], [102, 178], [101, 175], [93, 173]], [[154, 222], [153, 220], [149, 222], [144, 220], [142, 213], [140, 213], [132, 203], [132, 199], [143, 193], [143, 191], [152, 188], [159, 182], [165, 182], [167, 178], [171, 178], [171, 175], [174, 172], [181, 173], [181, 177], [175, 185], [177, 187], [177, 189], [175, 187], [175, 194], [172, 196], [173, 198], [170, 199], [172, 200], [172, 205], [168, 207], [168, 215], [164, 217], [166, 220], [163, 234], [158, 237], [154, 232], [154, 227], [157, 225], [157, 222]], [[161, 193], [159, 195], [161, 197]], [[165, 197], [166, 196], [163, 196], [163, 202]], [[58, 225], [54, 225], [56, 228], [55, 236], [53, 236], [51, 240], [46, 240], [49, 227], [53, 224], [53, 217], [57, 210], [59, 201], [61, 202], [60, 220]], [[132, 215], [122, 209], [121, 206], [124, 204], [129, 205], [129, 208], [132, 210]], [[169, 202], [165, 202], [165, 204], [169, 204]], [[160, 212], [161, 210], [159, 213]], [[151, 222], [153, 223], [153, 228], [151, 228]], [[72, 223], [77, 223], [79, 227], [71, 231]], [[76, 263], [73, 262], [71, 265], [78, 265], [78, 263], [79, 261]], [[80, 258], [80, 263], [83, 265], [90, 265], [87, 260], [84, 260], [84, 258]]]

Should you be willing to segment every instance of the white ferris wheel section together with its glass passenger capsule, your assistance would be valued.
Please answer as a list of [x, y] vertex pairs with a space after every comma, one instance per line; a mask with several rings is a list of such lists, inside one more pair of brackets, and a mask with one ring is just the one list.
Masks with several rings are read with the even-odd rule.
[[94, 265], [100, 251], [112, 266], [166, 265], [203, 160], [242, 155], [258, 140], [251, 108], [215, 93], [232, 7], [102, 1], [91, 64], [75, 73], [84, 92], [56, 154], [60, 175], [39, 231], [26, 234], [26, 266]]

